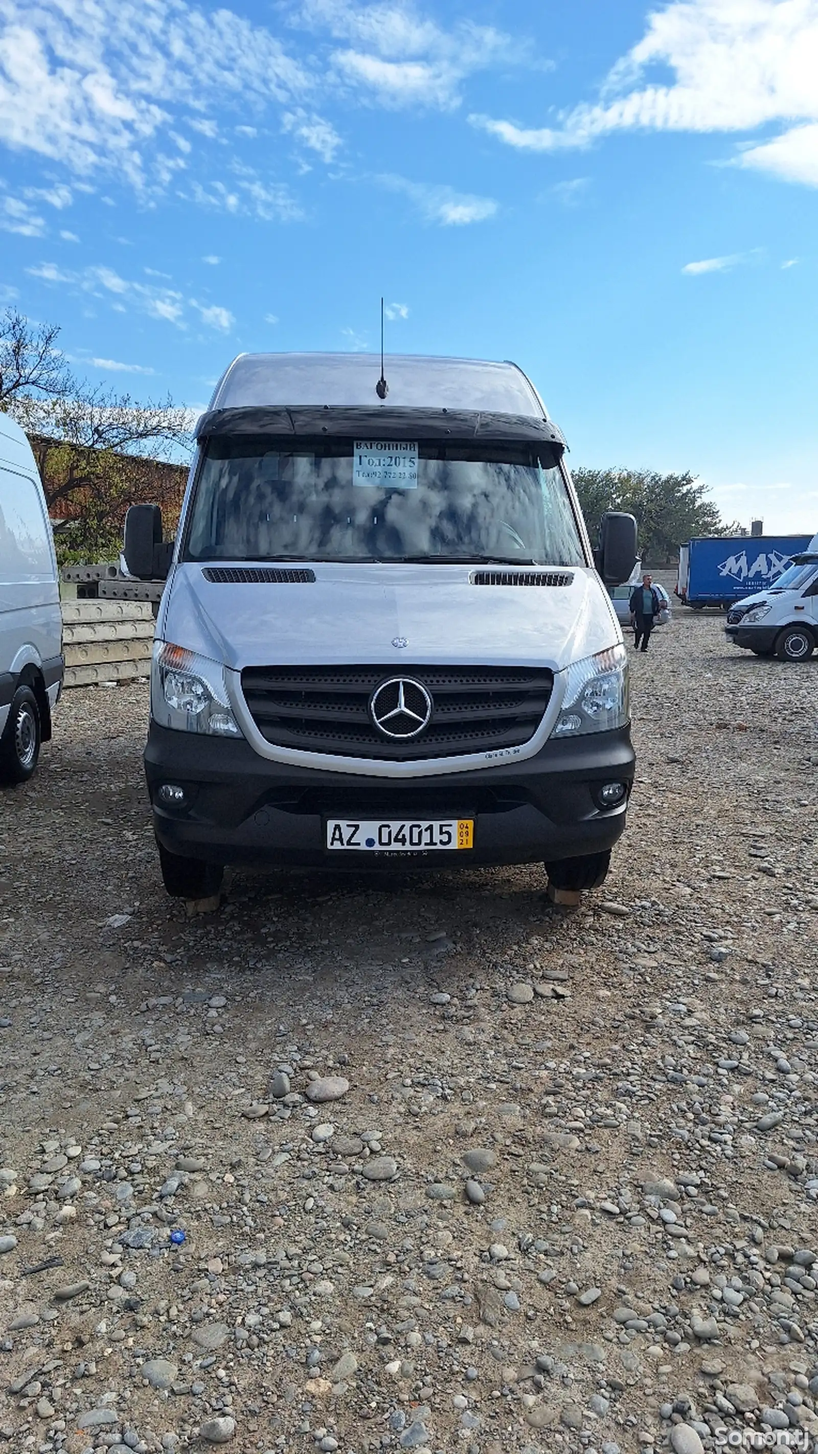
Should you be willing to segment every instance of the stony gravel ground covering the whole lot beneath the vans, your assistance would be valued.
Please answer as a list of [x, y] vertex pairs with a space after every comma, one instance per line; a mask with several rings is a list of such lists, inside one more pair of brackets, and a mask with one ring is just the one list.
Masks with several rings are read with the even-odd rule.
[[0, 1447], [818, 1438], [818, 663], [677, 616], [570, 915], [525, 868], [186, 919], [144, 685], [67, 695], [1, 800]]

